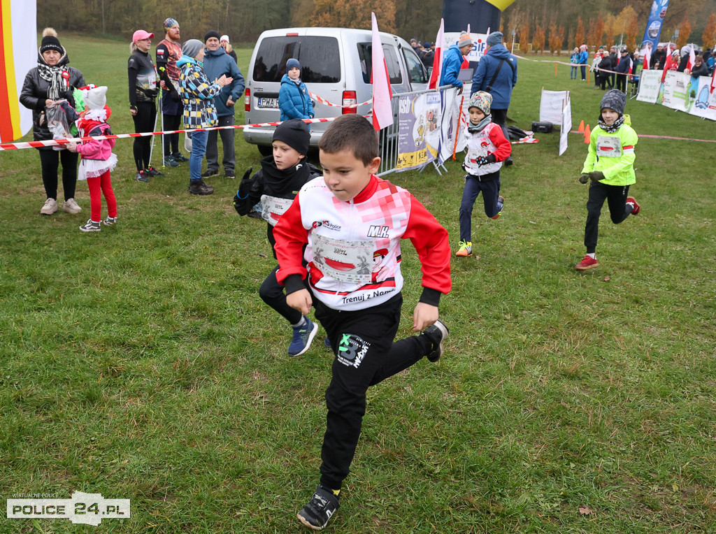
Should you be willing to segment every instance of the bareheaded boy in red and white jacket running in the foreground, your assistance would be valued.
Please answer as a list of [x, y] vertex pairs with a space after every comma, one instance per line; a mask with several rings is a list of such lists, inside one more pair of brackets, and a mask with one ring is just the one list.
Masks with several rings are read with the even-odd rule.
[[[335, 355], [321, 480], [298, 514], [314, 530], [339, 508], [368, 387], [423, 356], [442, 356], [448, 327], [437, 306], [452, 287], [448, 230], [407, 190], [374, 174], [380, 157], [371, 123], [361, 115], [338, 117], [319, 150], [323, 177], [301, 188], [274, 228], [276, 279], [286, 288], [286, 302], [304, 315], [315, 308]], [[412, 324], [422, 333], [394, 342], [402, 307], [402, 239], [412, 241], [422, 265]]]

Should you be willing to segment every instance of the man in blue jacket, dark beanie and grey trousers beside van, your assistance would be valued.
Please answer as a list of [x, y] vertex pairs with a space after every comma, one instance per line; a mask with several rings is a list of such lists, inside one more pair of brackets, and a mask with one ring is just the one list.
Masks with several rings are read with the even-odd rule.
[[[218, 115], [217, 126], [233, 126], [234, 124], [234, 104], [241, 99], [243, 88], [243, 76], [236, 66], [233, 58], [221, 48], [219, 44], [219, 32], [210, 29], [204, 36], [204, 44], [206, 52], [204, 55], [204, 74], [210, 80], [221, 78], [222, 74], [226, 77], [233, 78], [231, 84], [227, 84], [221, 89], [216, 97], [214, 97], [214, 105], [216, 106], [216, 115]], [[206, 172], [201, 178], [211, 178], [219, 174], [219, 148], [218, 135], [221, 132], [221, 144], [223, 145], [223, 168], [226, 178], [234, 178], [234, 167], [236, 166], [236, 153], [234, 150], [233, 140], [235, 130], [233, 128], [227, 130], [211, 130], [208, 132], [206, 140]]]

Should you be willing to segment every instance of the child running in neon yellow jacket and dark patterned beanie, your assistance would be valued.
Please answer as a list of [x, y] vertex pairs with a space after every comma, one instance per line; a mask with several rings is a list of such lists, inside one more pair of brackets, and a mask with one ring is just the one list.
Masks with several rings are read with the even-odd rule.
[[624, 115], [627, 95], [611, 89], [601, 99], [599, 125], [591, 132], [589, 151], [579, 181], [589, 185], [586, 203], [584, 246], [586, 256], [575, 268], [586, 271], [599, 265], [596, 261], [596, 240], [599, 235], [599, 215], [604, 200], [609, 205], [609, 215], [614, 224], [621, 223], [629, 215], [637, 215], [641, 207], [637, 200], [628, 196], [629, 186], [637, 182], [634, 174], [634, 147], [639, 142], [629, 115]]

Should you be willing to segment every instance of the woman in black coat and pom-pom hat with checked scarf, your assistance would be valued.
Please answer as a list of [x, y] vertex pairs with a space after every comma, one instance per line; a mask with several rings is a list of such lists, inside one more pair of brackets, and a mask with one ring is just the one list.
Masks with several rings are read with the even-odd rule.
[[[74, 107], [72, 92], [77, 87], [84, 87], [82, 72], [69, 67], [67, 51], [59, 44], [57, 32], [45, 28], [42, 42], [37, 53], [37, 67], [30, 69], [22, 84], [20, 102], [32, 110], [32, 135], [36, 141], [52, 139], [52, 132], [47, 127], [46, 109], [55, 102], [67, 99]], [[62, 162], [62, 189], [64, 204], [62, 209], [68, 213], [79, 213], [82, 208], [74, 201], [74, 188], [77, 186], [77, 152], [69, 152], [62, 147], [41, 147], [40, 155], [42, 183], [44, 184], [45, 200], [40, 213], [52, 215], [57, 211], [57, 169]]]

